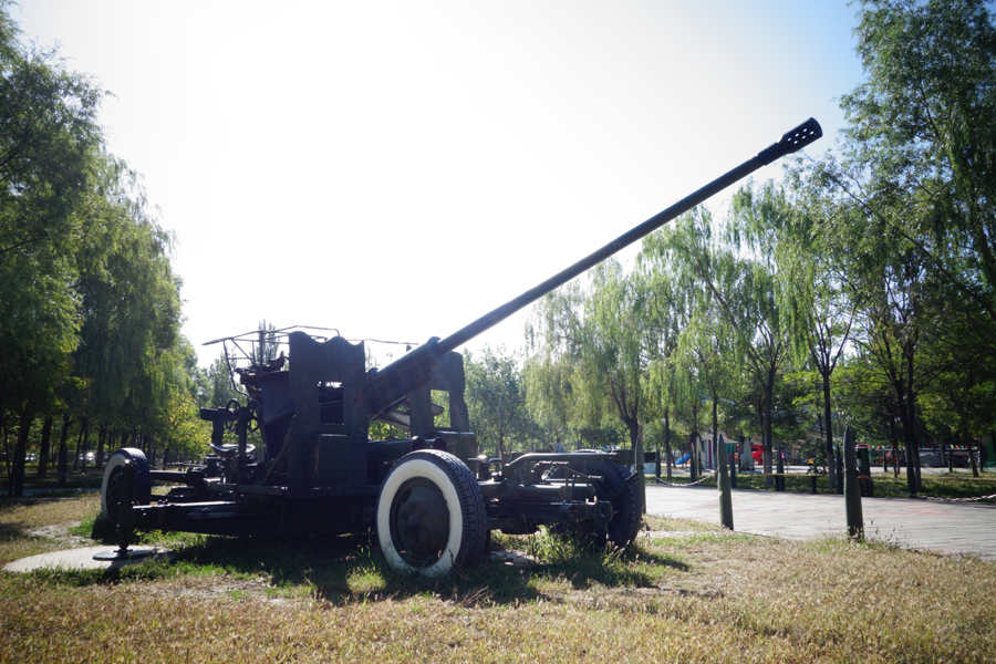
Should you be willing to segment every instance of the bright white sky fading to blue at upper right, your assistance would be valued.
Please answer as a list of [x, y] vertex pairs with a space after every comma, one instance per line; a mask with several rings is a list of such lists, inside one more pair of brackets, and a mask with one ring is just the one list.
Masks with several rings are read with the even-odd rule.
[[[446, 336], [810, 116], [824, 137], [808, 154], [821, 154], [862, 77], [855, 11], [22, 0], [11, 15], [25, 43], [58, 45], [113, 94], [100, 115], [110, 151], [175, 234], [184, 333], [206, 365], [220, 347], [204, 342], [263, 319]], [[519, 347], [526, 321], [465, 347]]]

